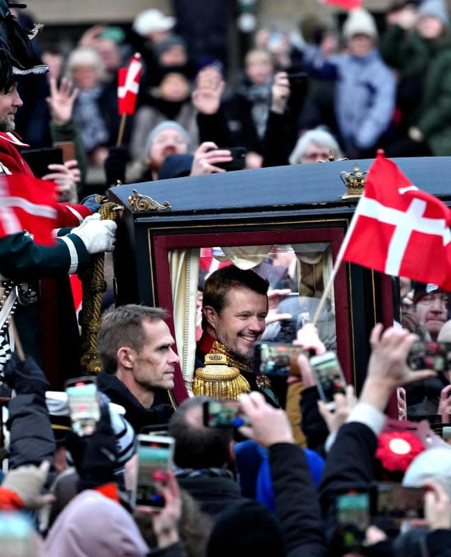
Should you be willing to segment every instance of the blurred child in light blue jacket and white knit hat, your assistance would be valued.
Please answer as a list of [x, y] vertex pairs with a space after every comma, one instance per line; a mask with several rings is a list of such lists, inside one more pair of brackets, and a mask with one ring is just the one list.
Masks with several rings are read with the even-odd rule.
[[306, 69], [313, 77], [335, 80], [335, 116], [346, 156], [372, 157], [392, 120], [395, 74], [376, 48], [378, 32], [367, 10], [351, 10], [342, 31], [346, 54], [325, 58], [309, 45]]

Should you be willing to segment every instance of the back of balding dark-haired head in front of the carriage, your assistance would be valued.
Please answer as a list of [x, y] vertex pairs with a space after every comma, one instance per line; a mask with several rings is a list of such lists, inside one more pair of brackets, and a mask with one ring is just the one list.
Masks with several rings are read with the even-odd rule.
[[222, 468], [227, 464], [233, 431], [206, 427], [199, 420], [202, 405], [211, 400], [207, 396], [188, 398], [169, 419], [168, 435], [175, 439], [174, 464], [179, 468]]

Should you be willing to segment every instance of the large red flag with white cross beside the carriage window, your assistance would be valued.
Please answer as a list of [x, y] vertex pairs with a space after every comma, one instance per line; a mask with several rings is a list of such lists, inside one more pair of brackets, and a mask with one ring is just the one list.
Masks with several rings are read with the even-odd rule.
[[346, 233], [345, 261], [451, 290], [451, 210], [379, 151]]

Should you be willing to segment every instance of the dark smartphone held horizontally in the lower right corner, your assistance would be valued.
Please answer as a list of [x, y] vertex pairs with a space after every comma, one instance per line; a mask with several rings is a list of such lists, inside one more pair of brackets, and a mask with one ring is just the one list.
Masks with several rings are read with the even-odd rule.
[[376, 515], [388, 517], [398, 525], [405, 520], [422, 519], [425, 508], [423, 487], [404, 487], [399, 483], [377, 484]]

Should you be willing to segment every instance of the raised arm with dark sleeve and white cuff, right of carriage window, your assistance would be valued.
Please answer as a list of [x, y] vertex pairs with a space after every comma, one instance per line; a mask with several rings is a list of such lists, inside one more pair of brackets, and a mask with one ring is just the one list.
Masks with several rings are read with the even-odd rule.
[[337, 531], [337, 494], [351, 489], [369, 490], [374, 482], [377, 438], [385, 425], [388, 400], [400, 385], [435, 375], [434, 371], [413, 371], [406, 365], [415, 339], [406, 329], [390, 327], [383, 331], [381, 323], [372, 330], [372, 352], [359, 401], [337, 432], [319, 487], [329, 542]]

